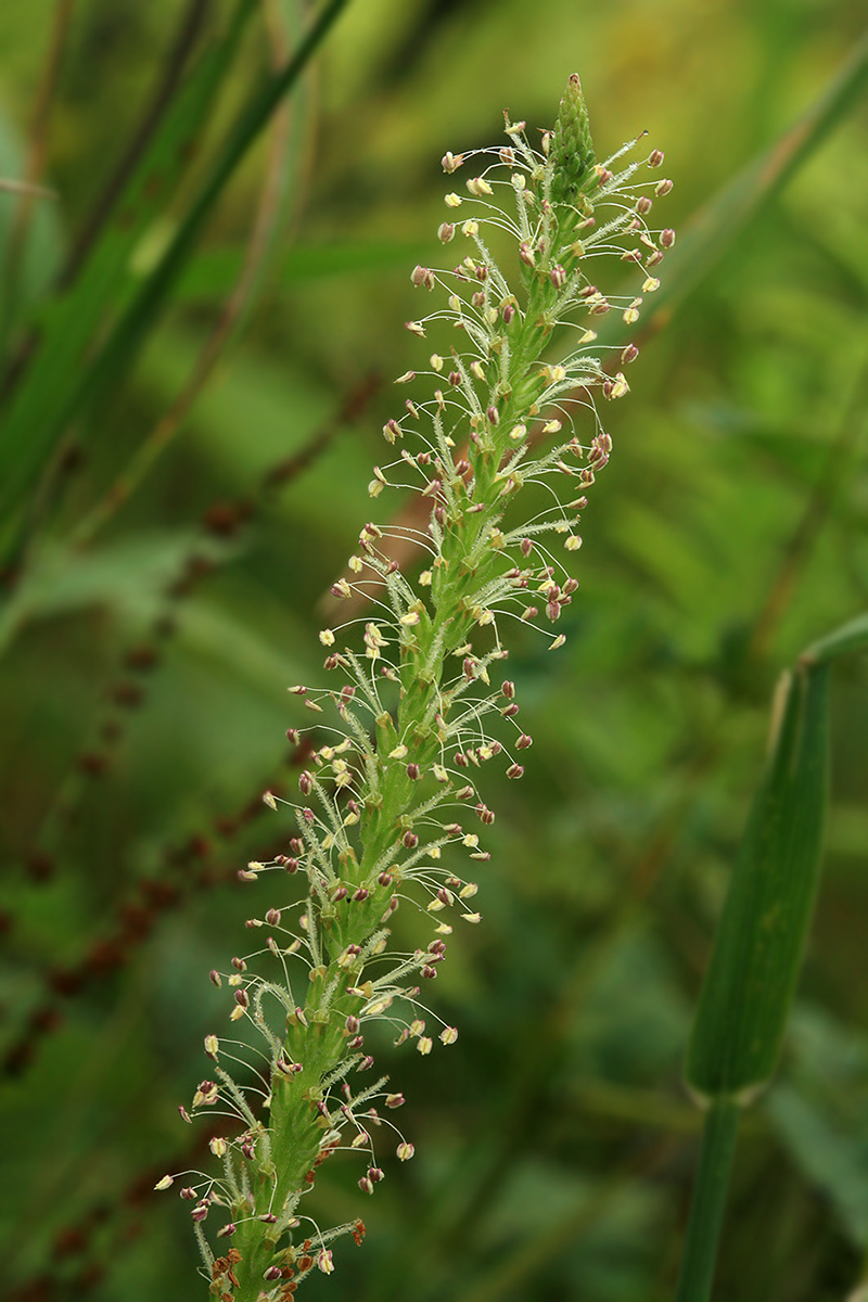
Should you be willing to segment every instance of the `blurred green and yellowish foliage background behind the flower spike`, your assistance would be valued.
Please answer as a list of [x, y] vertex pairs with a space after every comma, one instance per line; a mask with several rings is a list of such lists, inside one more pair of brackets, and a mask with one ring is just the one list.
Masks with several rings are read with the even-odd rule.
[[[0, 180], [27, 174], [35, 139], [56, 193], [0, 190], [0, 458], [57, 319], [51, 286], [74, 286], [88, 230], [122, 238], [107, 186], [148, 104], [174, 95], [183, 23], [191, 66], [233, 9], [0, 7]], [[321, 10], [251, 7], [185, 142], [198, 152], [165, 202], [146, 187], [86, 346], [66, 379], [31, 384], [40, 410], [96, 374], [239, 105]], [[310, 1213], [360, 1215], [368, 1237], [305, 1288], [671, 1295], [698, 1133], [679, 1064], [770, 690], [868, 607], [861, 73], [822, 139], [785, 135], [859, 57], [863, 22], [852, 0], [350, 0], [135, 365], [103, 366], [96, 397], [33, 452], [23, 510], [0, 519], [5, 1295], [206, 1295], [183, 1204], [151, 1190], [210, 1160], [204, 1128], [177, 1116], [203, 1035], [225, 1029], [207, 973], [247, 948], [245, 918], [285, 902], [236, 872], [289, 835], [260, 797], [294, 781], [286, 687], [320, 672], [318, 605], [372, 514], [392, 380], [418, 365], [402, 323], [410, 268], [439, 256], [439, 160], [498, 142], [505, 108], [550, 125], [574, 70], [599, 155], [642, 130], [666, 152], [670, 297], [630, 397], [604, 413], [614, 456], [584, 516], [567, 646], [514, 643], [535, 746], [509, 792], [485, 775], [484, 922], [455, 934], [433, 990], [459, 1042], [393, 1052], [416, 1157], [400, 1167], [385, 1142], [372, 1199], [355, 1159], [328, 1164]], [[750, 203], [725, 204], [782, 137], [787, 184], [773, 152]], [[744, 1128], [721, 1302], [843, 1302], [864, 1269], [864, 659], [835, 674], [833, 767], [819, 917], [781, 1077]], [[398, 914], [398, 940], [411, 922]]]

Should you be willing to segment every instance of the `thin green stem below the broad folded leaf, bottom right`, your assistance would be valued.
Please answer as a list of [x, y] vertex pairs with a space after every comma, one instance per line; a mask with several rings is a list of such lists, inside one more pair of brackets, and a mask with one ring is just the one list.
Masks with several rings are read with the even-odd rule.
[[740, 1116], [731, 1098], [716, 1099], [705, 1113], [675, 1302], [708, 1302], [711, 1297]]

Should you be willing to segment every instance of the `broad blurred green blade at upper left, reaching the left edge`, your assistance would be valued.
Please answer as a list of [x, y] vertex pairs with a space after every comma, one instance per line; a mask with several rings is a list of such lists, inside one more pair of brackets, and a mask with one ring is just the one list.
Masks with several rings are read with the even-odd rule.
[[38, 350], [0, 428], [0, 519], [8, 521], [90, 391], [95, 333], [129, 298], [131, 255], [189, 164], [256, 0], [239, 0], [224, 34], [182, 83], [72, 288], [47, 309]]

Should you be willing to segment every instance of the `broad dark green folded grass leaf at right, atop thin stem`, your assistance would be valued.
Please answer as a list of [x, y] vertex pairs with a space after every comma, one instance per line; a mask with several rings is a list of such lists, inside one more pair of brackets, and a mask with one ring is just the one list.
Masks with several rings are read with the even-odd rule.
[[750, 1101], [778, 1059], [820, 876], [829, 673], [802, 665], [783, 682], [687, 1051], [701, 1099]]

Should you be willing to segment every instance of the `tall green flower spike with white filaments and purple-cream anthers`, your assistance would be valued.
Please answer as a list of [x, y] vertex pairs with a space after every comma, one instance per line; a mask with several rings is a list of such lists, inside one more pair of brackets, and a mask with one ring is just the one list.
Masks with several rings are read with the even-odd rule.
[[[390, 460], [370, 484], [372, 497], [409, 488], [419, 514], [366, 523], [332, 589], [345, 618], [320, 642], [337, 684], [290, 689], [308, 727], [299, 720], [288, 733], [307, 767], [286, 853], [241, 872], [298, 875], [306, 898], [251, 919], [264, 944], [211, 974], [232, 991], [229, 1019], [249, 1023], [263, 1047], [256, 1083], [242, 1088], [229, 1064], [251, 1051], [208, 1035], [210, 1078], [193, 1099], [194, 1115], [228, 1117], [226, 1137], [211, 1139], [220, 1173], [181, 1189], [223, 1302], [285, 1302], [308, 1272], [332, 1272], [338, 1236], [360, 1242], [360, 1220], [321, 1229], [303, 1212], [318, 1167], [336, 1150], [364, 1156], [359, 1185], [368, 1194], [384, 1177], [375, 1137], [392, 1135], [400, 1160], [413, 1156], [392, 1120], [403, 1096], [373, 1070], [366, 1032], [387, 1019], [397, 1043], [422, 1055], [457, 1039], [420, 988], [437, 975], [450, 919], [480, 921], [476, 884], [455, 866], [455, 852], [470, 865], [489, 857], [483, 837], [495, 814], [478, 790], [480, 771], [495, 762], [521, 779], [532, 745], [502, 668], [506, 625], [537, 628], [552, 650], [565, 642], [544, 629], [578, 583], [553, 547], [580, 547], [586, 493], [610, 453], [595, 397], [627, 393], [623, 368], [638, 355], [627, 344], [604, 359], [593, 327], [609, 312], [636, 322], [674, 242], [670, 229], [648, 225], [655, 197], [671, 189], [645, 174], [662, 154], [622, 163], [634, 141], [596, 163], [576, 76], [539, 150], [524, 122], [508, 118], [506, 141], [442, 159], [450, 177], [466, 177], [446, 194], [439, 229], [458, 260], [414, 268], [413, 284], [435, 307], [407, 329], [424, 340], [445, 322], [454, 345], [398, 378], [414, 384], [410, 393], [420, 376], [428, 388], [384, 426]], [[495, 246], [513, 266], [501, 268]], [[627, 264], [629, 293], [613, 297], [592, 283], [600, 256]], [[553, 341], [558, 359], [544, 359]], [[574, 430], [582, 409], [587, 445]], [[528, 484], [537, 491], [524, 518]], [[424, 556], [415, 581], [396, 560], [407, 551]], [[278, 807], [271, 793], [265, 801]], [[431, 914], [424, 949], [390, 948], [400, 901]], [[178, 1181], [165, 1176], [157, 1189]]]

